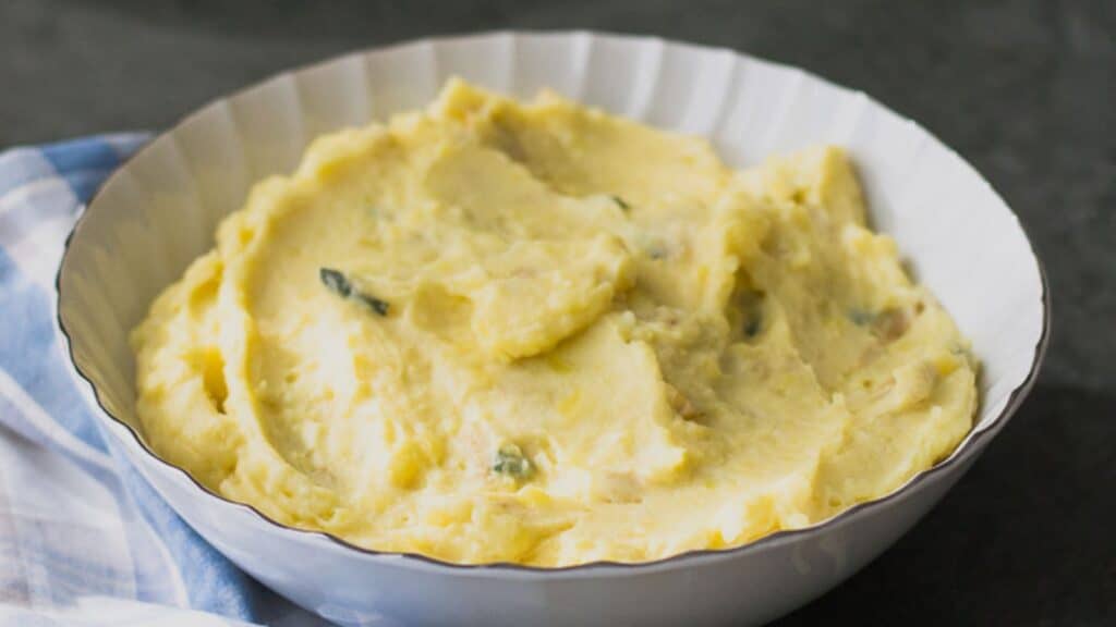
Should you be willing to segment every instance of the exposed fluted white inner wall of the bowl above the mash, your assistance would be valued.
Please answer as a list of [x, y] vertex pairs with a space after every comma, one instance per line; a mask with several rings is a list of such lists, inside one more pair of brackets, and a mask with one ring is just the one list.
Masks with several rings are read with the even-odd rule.
[[[129, 330], [213, 245], [253, 182], [290, 172], [316, 135], [429, 103], [453, 75], [521, 97], [542, 87], [708, 136], [733, 166], [830, 142], [853, 154], [876, 229], [893, 235], [972, 339], [980, 419], [1000, 416], [1043, 335], [1038, 261], [1018, 220], [962, 158], [864, 94], [801, 70], [657, 39], [494, 33], [349, 55], [215, 102], [115, 173], [73, 234], [59, 317], [104, 407], [137, 432]], [[970, 435], [972, 437], [972, 435]]]

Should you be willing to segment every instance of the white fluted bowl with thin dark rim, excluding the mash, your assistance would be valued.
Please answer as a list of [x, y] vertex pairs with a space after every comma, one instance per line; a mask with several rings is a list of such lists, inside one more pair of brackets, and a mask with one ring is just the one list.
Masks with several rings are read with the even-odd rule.
[[[147, 448], [127, 335], [152, 299], [213, 245], [251, 184], [289, 172], [316, 135], [430, 102], [460, 75], [567, 96], [709, 136], [734, 166], [819, 142], [856, 161], [875, 226], [972, 339], [981, 411], [958, 450], [895, 493], [738, 549], [644, 565], [455, 566], [285, 528], [199, 485]], [[588, 32], [423, 40], [279, 75], [218, 100], [143, 148], [74, 228], [58, 319], [90, 406], [194, 529], [257, 579], [353, 625], [735, 625], [769, 620], [855, 572], [911, 528], [1003, 427], [1047, 338], [1038, 259], [1003, 201], [961, 157], [864, 94], [731, 50]], [[90, 394], [92, 393], [92, 394]], [[980, 532], [980, 531], [978, 531]], [[961, 550], [961, 547], [958, 547]]]

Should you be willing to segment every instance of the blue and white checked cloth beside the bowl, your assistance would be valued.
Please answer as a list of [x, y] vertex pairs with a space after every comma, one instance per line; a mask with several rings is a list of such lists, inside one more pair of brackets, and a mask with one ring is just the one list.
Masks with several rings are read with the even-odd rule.
[[213, 550], [85, 406], [54, 280], [81, 204], [143, 134], [0, 153], [0, 627], [320, 624]]

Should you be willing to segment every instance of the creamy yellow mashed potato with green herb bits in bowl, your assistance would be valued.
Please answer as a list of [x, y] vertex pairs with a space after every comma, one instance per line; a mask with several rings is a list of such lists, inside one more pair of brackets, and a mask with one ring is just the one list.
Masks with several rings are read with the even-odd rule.
[[732, 547], [884, 495], [975, 361], [846, 155], [452, 81], [252, 191], [135, 329], [154, 451], [296, 527], [453, 562]]

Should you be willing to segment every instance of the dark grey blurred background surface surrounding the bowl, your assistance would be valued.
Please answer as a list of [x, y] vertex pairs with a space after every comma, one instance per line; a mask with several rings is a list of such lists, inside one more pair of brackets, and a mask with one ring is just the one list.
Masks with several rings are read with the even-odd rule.
[[0, 147], [158, 129], [290, 66], [500, 28], [725, 46], [867, 91], [973, 163], [1047, 266], [1030, 399], [914, 531], [779, 626], [1116, 625], [1114, 0], [0, 0]]

